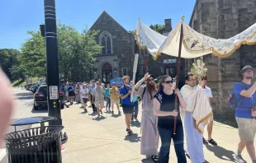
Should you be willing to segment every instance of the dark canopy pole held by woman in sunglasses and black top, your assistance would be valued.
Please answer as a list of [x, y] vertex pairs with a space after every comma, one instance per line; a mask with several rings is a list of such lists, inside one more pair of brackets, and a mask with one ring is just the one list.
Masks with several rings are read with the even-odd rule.
[[[180, 61], [181, 61], [181, 54], [182, 54], [182, 45], [183, 45], [183, 24], [181, 26], [181, 33], [179, 39], [179, 47], [178, 47], [178, 62], [176, 65], [177, 69], [177, 77], [176, 77], [176, 88], [178, 89], [178, 79], [179, 79], [179, 69], [180, 69]], [[175, 111], [178, 111], [178, 95], [175, 95]], [[174, 117], [174, 126], [173, 126], [173, 134], [176, 134], [176, 124], [177, 124], [177, 117]]]

